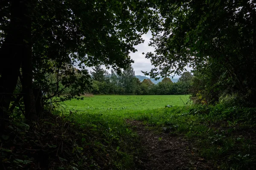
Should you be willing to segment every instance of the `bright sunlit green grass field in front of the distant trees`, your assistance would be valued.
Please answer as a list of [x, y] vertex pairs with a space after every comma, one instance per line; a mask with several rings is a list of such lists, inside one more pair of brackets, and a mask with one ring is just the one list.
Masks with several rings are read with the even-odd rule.
[[117, 96], [96, 95], [84, 97], [83, 100], [73, 99], [65, 102], [66, 109], [81, 112], [97, 111], [142, 111], [164, 108], [166, 105], [181, 106], [189, 99], [189, 95], [169, 96]]

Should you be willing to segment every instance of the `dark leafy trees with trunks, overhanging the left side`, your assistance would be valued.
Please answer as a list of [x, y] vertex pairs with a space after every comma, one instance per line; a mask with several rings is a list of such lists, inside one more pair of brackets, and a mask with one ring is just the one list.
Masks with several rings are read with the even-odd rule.
[[1, 0], [0, 14], [2, 119], [8, 119], [18, 77], [24, 95], [17, 99], [23, 98], [31, 119], [38, 114], [33, 88], [43, 91], [44, 101], [70, 88], [60, 98], [70, 99], [90, 85], [86, 66], [127, 68], [129, 53], [156, 16], [146, 0]]

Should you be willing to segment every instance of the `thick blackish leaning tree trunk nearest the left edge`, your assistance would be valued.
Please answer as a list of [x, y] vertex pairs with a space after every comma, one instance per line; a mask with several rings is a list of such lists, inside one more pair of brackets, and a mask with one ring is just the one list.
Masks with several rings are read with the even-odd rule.
[[[0, 49], [0, 126], [9, 120], [9, 106], [12, 94], [17, 85], [20, 71], [21, 52], [24, 48], [23, 33], [26, 26], [23, 23], [26, 2], [11, 0], [10, 26], [6, 31], [6, 39]], [[6, 120], [6, 121], [5, 121]]]

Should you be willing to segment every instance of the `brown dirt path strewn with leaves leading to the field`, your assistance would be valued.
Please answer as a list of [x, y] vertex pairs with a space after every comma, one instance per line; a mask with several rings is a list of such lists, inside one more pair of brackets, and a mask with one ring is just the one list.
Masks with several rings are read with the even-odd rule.
[[140, 136], [144, 155], [140, 170], [212, 170], [211, 164], [200, 158], [197, 149], [181, 135], [156, 133], [143, 122], [127, 120]]

